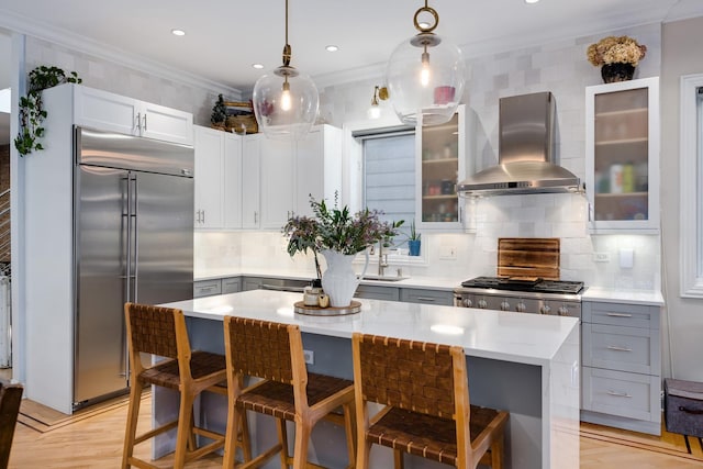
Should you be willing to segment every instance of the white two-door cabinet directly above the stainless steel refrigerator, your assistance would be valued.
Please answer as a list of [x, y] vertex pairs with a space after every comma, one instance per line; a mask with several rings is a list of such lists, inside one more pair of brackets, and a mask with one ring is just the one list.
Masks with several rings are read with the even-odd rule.
[[108, 91], [71, 85], [77, 125], [192, 145], [192, 114]]

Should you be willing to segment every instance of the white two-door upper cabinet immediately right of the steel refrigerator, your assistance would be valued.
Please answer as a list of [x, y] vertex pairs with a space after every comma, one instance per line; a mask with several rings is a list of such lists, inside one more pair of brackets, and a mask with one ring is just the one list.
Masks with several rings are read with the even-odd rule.
[[194, 125], [196, 227], [242, 227], [242, 136]]

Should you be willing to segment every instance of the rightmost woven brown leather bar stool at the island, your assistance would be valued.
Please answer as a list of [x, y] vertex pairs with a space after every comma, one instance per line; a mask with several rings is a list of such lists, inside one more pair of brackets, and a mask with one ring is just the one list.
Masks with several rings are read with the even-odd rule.
[[[461, 347], [355, 333], [357, 468], [369, 467], [372, 444], [457, 468], [503, 467], [509, 414], [469, 404]], [[383, 409], [369, 416], [369, 402]]]

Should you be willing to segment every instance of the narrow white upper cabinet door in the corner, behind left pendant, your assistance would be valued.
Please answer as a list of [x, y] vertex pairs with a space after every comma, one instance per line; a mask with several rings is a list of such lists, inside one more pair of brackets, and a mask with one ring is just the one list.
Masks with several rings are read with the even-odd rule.
[[263, 134], [246, 135], [242, 150], [242, 227], [258, 228], [261, 223]]

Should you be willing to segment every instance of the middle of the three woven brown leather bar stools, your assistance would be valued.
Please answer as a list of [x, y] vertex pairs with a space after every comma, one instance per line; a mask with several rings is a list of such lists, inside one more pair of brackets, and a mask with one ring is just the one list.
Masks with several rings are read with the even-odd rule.
[[[339, 407], [344, 411], [349, 468], [354, 468], [354, 383], [349, 380], [309, 373], [303, 357], [300, 327], [267, 321], [225, 316], [225, 356], [230, 410], [224, 465], [234, 464], [234, 435], [239, 415], [254, 411], [276, 418], [278, 443], [239, 469], [259, 467], [280, 455], [281, 468], [320, 466], [309, 462], [308, 446], [313, 426]], [[243, 387], [244, 379], [259, 378]], [[256, 380], [250, 380], [256, 381]], [[333, 417], [333, 421], [335, 418]], [[288, 454], [286, 421], [295, 423], [293, 457]]]

